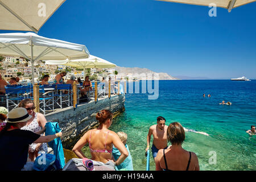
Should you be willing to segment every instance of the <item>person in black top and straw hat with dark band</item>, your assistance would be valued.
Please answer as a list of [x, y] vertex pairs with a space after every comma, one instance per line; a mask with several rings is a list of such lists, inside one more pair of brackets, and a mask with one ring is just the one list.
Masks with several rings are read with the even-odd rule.
[[0, 132], [0, 171], [20, 171], [27, 162], [28, 146], [31, 143], [44, 143], [61, 137], [62, 133], [41, 136], [32, 131], [20, 130], [31, 115], [23, 107], [11, 110], [7, 124]]

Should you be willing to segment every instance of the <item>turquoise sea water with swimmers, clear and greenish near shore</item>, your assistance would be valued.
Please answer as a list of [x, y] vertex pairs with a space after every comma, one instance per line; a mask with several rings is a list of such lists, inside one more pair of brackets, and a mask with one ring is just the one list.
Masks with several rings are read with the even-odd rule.
[[[256, 125], [255, 91], [256, 80], [159, 81], [156, 100], [148, 100], [152, 94], [127, 93], [125, 111], [114, 118], [110, 130], [127, 133], [134, 170], [146, 171], [147, 133], [159, 115], [166, 118], [166, 125], [180, 122], [187, 129], [209, 134], [187, 132], [183, 144], [198, 156], [200, 170], [256, 170], [256, 135], [245, 133]], [[232, 105], [219, 105], [222, 100]], [[216, 164], [209, 163], [210, 151], [216, 152]], [[151, 152], [150, 170], [155, 170]]]

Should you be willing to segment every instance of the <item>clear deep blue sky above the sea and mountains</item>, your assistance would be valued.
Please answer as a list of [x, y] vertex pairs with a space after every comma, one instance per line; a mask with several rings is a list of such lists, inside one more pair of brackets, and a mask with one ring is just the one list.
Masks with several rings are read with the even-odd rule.
[[84, 44], [121, 67], [256, 78], [256, 2], [231, 13], [217, 8], [217, 17], [209, 10], [153, 0], [67, 0], [39, 35]]

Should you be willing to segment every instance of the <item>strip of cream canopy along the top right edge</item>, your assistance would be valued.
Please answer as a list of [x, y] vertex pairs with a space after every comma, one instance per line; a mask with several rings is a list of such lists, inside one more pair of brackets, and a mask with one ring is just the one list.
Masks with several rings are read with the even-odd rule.
[[217, 7], [223, 7], [225, 9], [231, 9], [246, 5], [247, 3], [255, 2], [255, 0], [157, 0], [157, 1], [168, 1], [168, 2], [177, 2], [177, 3], [185, 3], [190, 5], [201, 5], [201, 6], [209, 6], [210, 3], [216, 4]]

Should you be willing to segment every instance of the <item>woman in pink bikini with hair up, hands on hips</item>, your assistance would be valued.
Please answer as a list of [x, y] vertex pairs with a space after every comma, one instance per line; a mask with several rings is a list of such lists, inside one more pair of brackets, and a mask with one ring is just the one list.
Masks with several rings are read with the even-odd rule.
[[[121, 164], [129, 154], [118, 135], [114, 131], [108, 130], [112, 125], [113, 114], [109, 110], [101, 110], [100, 113], [97, 113], [96, 119], [100, 126], [87, 131], [75, 144], [72, 151], [79, 158], [86, 158], [81, 149], [85, 144], [89, 144], [92, 160], [102, 163], [113, 162], [115, 165]], [[115, 162], [112, 160], [113, 144], [121, 152], [121, 156]]]

